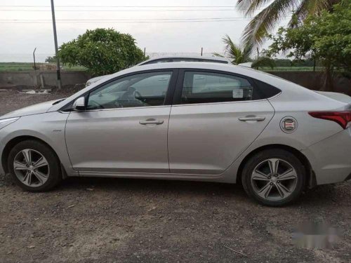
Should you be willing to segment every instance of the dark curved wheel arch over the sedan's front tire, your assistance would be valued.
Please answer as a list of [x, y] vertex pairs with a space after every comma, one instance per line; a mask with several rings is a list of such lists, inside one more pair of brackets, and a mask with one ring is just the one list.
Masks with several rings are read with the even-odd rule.
[[[2, 155], [1, 155], [1, 165], [4, 168], [5, 174], [9, 173], [8, 171], [8, 155], [10, 154], [11, 149], [18, 143], [26, 141], [26, 140], [36, 140], [38, 142], [41, 142], [43, 144], [45, 144], [47, 147], [49, 147], [53, 153], [55, 154], [55, 156], [58, 158], [58, 161], [60, 161], [60, 157], [58, 156], [58, 154], [56, 153], [56, 151], [53, 149], [53, 147], [51, 147], [50, 144], [48, 144], [48, 142], [45, 142], [44, 140], [39, 139], [38, 137], [34, 137], [31, 135], [20, 135], [17, 137], [13, 137], [11, 140], [9, 140], [7, 142], [7, 144], [4, 147], [4, 151], [2, 151]], [[65, 177], [67, 177], [67, 173], [65, 170], [65, 167], [62, 166], [62, 162], [60, 161], [60, 167], [61, 167], [61, 173], [62, 173], [62, 178], [65, 179]]]

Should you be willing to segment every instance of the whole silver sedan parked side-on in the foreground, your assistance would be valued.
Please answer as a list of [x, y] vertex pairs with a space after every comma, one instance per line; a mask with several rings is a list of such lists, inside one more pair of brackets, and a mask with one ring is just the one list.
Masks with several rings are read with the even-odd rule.
[[133, 67], [1, 116], [0, 173], [28, 191], [67, 176], [240, 183], [260, 203], [285, 205], [351, 179], [345, 101], [245, 67]]

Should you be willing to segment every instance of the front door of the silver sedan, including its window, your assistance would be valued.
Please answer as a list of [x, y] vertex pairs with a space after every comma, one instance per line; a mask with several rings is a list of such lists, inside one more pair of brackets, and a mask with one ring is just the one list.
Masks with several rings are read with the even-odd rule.
[[172, 70], [133, 74], [87, 96], [86, 111], [71, 112], [66, 143], [74, 170], [169, 173], [166, 105]]

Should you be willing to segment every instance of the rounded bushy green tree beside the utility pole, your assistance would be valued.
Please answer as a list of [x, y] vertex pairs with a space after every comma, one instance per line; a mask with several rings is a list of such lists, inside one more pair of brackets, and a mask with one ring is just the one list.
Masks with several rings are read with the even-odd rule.
[[63, 43], [58, 57], [69, 66], [86, 67], [94, 76], [119, 72], [145, 60], [133, 36], [104, 28], [86, 30], [77, 39]]

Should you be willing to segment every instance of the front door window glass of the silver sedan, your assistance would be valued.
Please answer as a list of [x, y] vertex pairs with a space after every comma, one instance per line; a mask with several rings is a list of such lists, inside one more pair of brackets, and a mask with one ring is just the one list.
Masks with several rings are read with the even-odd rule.
[[87, 109], [160, 106], [172, 72], [152, 72], [112, 81], [89, 94]]

